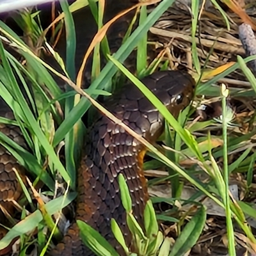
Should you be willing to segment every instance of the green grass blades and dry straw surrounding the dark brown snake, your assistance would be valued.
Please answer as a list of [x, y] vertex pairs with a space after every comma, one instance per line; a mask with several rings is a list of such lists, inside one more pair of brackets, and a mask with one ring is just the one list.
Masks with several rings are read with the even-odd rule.
[[[79, 152], [83, 147], [81, 138], [86, 136], [87, 128], [81, 118], [84, 113], [92, 115], [89, 108], [93, 104], [104, 115], [117, 121], [115, 116], [111, 116], [111, 113], [93, 99], [98, 95], [111, 94], [112, 88], [118, 86], [115, 82], [118, 81], [116, 72], [119, 72], [118, 74], [124, 74], [134, 81], [134, 84], [166, 118], [166, 129], [159, 139], [163, 147], [150, 145], [135, 134], [136, 138], [149, 149], [148, 156], [150, 156], [150, 160], [144, 163], [145, 173], [150, 177], [148, 186], [152, 195], [145, 210], [151, 225], [147, 223], [148, 218], [146, 218], [147, 234], [143, 233], [132, 217], [128, 189], [122, 191], [122, 195], [126, 198], [123, 204], [127, 211], [127, 219], [130, 220], [129, 227], [140, 252], [138, 255], [180, 256], [189, 255], [189, 253], [206, 255], [206, 253], [215, 252], [214, 250], [218, 247], [216, 243], [219, 246], [223, 244], [220, 246], [222, 248], [226, 246], [229, 255], [232, 256], [235, 256], [241, 248], [247, 252], [256, 253], [256, 239], [253, 233], [256, 216], [253, 207], [255, 202], [253, 137], [256, 134], [253, 97], [255, 97], [256, 80], [252, 71], [246, 67], [246, 63], [255, 60], [255, 56], [242, 58], [240, 55], [236, 56], [234, 52], [227, 53], [225, 51], [228, 50], [221, 49], [218, 42], [218, 38], [221, 38], [221, 42], [236, 47], [234, 45], [238, 43], [235, 41], [232, 44], [230, 35], [233, 34], [228, 34], [228, 31], [234, 32], [234, 28], [237, 28], [241, 20], [252, 21], [243, 8], [235, 4], [235, 1], [223, 1], [229, 7], [228, 11], [224, 11], [215, 0], [211, 0], [215, 6], [213, 14], [207, 10], [204, 13], [206, 7], [201, 5], [200, 1], [191, 1], [191, 6], [189, 5], [191, 13], [186, 12], [188, 16], [185, 16], [182, 6], [172, 7], [171, 13], [174, 18], [170, 18], [170, 24], [172, 19], [176, 19], [175, 24], [180, 22], [179, 26], [186, 28], [184, 31], [178, 31], [177, 25], [177, 31], [174, 32], [183, 36], [187, 36], [186, 33], [188, 33], [191, 41], [173, 36], [172, 46], [171, 44], [163, 45], [160, 42], [161, 52], [154, 60], [146, 61], [147, 32], [174, 2], [174, 0], [161, 1], [154, 6], [152, 12], [147, 14], [148, 3], [141, 1], [141, 4], [138, 4], [140, 24], [134, 31], [128, 29], [122, 46], [114, 55], [110, 55], [105, 37], [111, 22], [102, 26], [103, 2], [100, 2], [97, 8], [93, 0], [88, 3], [76, 1], [70, 6], [67, 1], [60, 1], [63, 13], [56, 17], [51, 28], [45, 31], [42, 30], [40, 22], [37, 22], [39, 13], [35, 9], [22, 10], [15, 17], [15, 21], [24, 31], [26, 40], [19, 38], [4, 22], [0, 22], [0, 93], [15, 115], [15, 121], [0, 118], [0, 122], [19, 126], [29, 149], [20, 147], [3, 132], [0, 133], [0, 142], [18, 159], [20, 164], [26, 167], [31, 177], [36, 177], [29, 186], [25, 186], [20, 179], [30, 210], [23, 208], [20, 221], [1, 239], [0, 249], [5, 248], [15, 237], [20, 237], [19, 255], [25, 255], [31, 244], [37, 244], [38, 255], [44, 255], [52, 236], [61, 237], [60, 230], [57, 228], [61, 220], [58, 213], [76, 198], [76, 170], [79, 165]], [[94, 17], [98, 19], [99, 32], [86, 52], [83, 65], [76, 77], [74, 64], [76, 29], [71, 13], [82, 8], [85, 3], [90, 5]], [[244, 8], [250, 10], [250, 7], [249, 4]], [[177, 8], [182, 11], [178, 12]], [[230, 24], [230, 17], [233, 18], [232, 24]], [[46, 38], [50, 31], [54, 31], [50, 41], [58, 37], [63, 19], [68, 35], [66, 38], [67, 64], [54, 51]], [[187, 20], [188, 23], [186, 23]], [[214, 38], [212, 45], [205, 46], [203, 39], [206, 36], [201, 38], [200, 28], [204, 21], [212, 24], [212, 28], [211, 26], [207, 28], [209, 38]], [[216, 33], [218, 29], [214, 22], [224, 31], [222, 34]], [[172, 26], [170, 24], [169, 26]], [[214, 33], [211, 33], [211, 29]], [[157, 31], [152, 30], [152, 33], [156, 35]], [[215, 36], [211, 37], [211, 35]], [[100, 41], [102, 41], [104, 55], [109, 60], [102, 70], [99, 70]], [[180, 45], [184, 45], [184, 48], [182, 49]], [[39, 58], [41, 46], [47, 48], [56, 58], [62, 73]], [[197, 86], [194, 102], [180, 113], [178, 120], [175, 120], [163, 104], [158, 102], [154, 94], [148, 92], [147, 88], [121, 64], [134, 48], [137, 48], [136, 54], [139, 56], [136, 62], [136, 77], [147, 76], [157, 68], [162, 70], [168, 67], [175, 68], [175, 60], [180, 67], [188, 68], [195, 77]], [[10, 49], [12, 51], [8, 51]], [[186, 54], [183, 52], [184, 49]], [[93, 81], [90, 88], [83, 92], [80, 89], [83, 82], [83, 69], [92, 51]], [[180, 56], [175, 56], [173, 51], [175, 54], [179, 52]], [[17, 53], [22, 56], [22, 62], [18, 60]], [[65, 81], [67, 89], [65, 93], [60, 89], [56, 76]], [[230, 80], [241, 80], [243, 83], [239, 84], [240, 88], [236, 88], [234, 83], [233, 86], [232, 83], [228, 84], [228, 88], [223, 83], [216, 86], [219, 81], [230, 82]], [[249, 86], [246, 80], [250, 82]], [[227, 104], [230, 99], [237, 100], [236, 113], [231, 111]], [[202, 103], [210, 104], [218, 100], [223, 109], [221, 118], [219, 115], [217, 118], [200, 120], [198, 107]], [[132, 132], [129, 127], [126, 129]], [[65, 150], [65, 164], [59, 157], [61, 150]], [[29, 179], [32, 179], [31, 177]], [[119, 179], [124, 184], [122, 188], [125, 188], [122, 176]], [[56, 186], [61, 186], [56, 180], [67, 184], [62, 195], [56, 193]], [[170, 184], [172, 184], [172, 193], [167, 193], [166, 191], [170, 190]], [[237, 192], [232, 193], [231, 188], [236, 188]], [[190, 191], [189, 195], [184, 196], [188, 191]], [[166, 196], [163, 196], [164, 194]], [[32, 198], [35, 198], [36, 202]], [[156, 206], [156, 212], [152, 205]], [[157, 205], [168, 207], [157, 209]], [[52, 219], [52, 214], [55, 214], [56, 220]], [[82, 221], [78, 223], [84, 243], [92, 244], [96, 239], [97, 243], [106, 244], [102, 243], [103, 238], [95, 235], [86, 223]], [[158, 226], [157, 223], [161, 224]], [[112, 220], [111, 224], [127, 255], [134, 255], [129, 252], [125, 242], [120, 238], [122, 236], [115, 220]], [[45, 237], [45, 227], [48, 234], [51, 233], [50, 237]], [[218, 239], [217, 242], [214, 242], [215, 237]], [[106, 248], [104, 246], [97, 246], [97, 248], [99, 255], [107, 255], [108, 245]]]

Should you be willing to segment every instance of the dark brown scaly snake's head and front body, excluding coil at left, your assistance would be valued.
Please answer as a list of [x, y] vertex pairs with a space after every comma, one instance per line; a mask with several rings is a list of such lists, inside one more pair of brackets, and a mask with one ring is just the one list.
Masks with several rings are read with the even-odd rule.
[[[193, 98], [195, 81], [180, 71], [156, 72], [142, 82], [160, 99], [173, 116], [186, 108]], [[113, 95], [105, 107], [126, 125], [150, 142], [156, 141], [164, 129], [164, 118], [134, 84]], [[115, 218], [131, 246], [125, 210], [120, 199], [117, 176], [122, 173], [132, 197], [134, 216], [143, 225], [143, 212], [148, 200], [147, 181], [142, 164], [145, 148], [135, 138], [102, 115], [89, 132], [84, 157], [79, 168], [76, 220], [86, 221], [125, 255], [111, 232], [110, 220]], [[76, 223], [68, 229], [63, 241], [51, 256], [95, 255], [79, 238]]]

